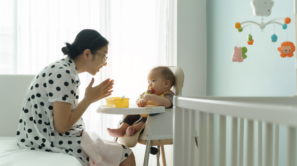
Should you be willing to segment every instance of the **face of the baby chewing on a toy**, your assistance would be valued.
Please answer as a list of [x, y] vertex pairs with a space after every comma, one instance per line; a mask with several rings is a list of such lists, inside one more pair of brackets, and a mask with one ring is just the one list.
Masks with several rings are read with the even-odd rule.
[[158, 70], [149, 72], [148, 76], [148, 89], [151, 89], [154, 95], [161, 95], [165, 92], [165, 79], [162, 78]]

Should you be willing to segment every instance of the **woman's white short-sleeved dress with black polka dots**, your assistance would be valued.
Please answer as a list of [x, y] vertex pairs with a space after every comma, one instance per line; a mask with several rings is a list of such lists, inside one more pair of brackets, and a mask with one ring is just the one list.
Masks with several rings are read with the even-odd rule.
[[[16, 136], [18, 146], [69, 154], [83, 165], [90, 165], [89, 156], [80, 147], [81, 133], [85, 129], [83, 119], [80, 118], [64, 134], [58, 133], [53, 123], [53, 102], [70, 103], [73, 110], [78, 103], [79, 85], [75, 64], [68, 56], [42, 69], [33, 79], [23, 101]], [[127, 153], [131, 154], [125, 149], [124, 158], [128, 157]]]

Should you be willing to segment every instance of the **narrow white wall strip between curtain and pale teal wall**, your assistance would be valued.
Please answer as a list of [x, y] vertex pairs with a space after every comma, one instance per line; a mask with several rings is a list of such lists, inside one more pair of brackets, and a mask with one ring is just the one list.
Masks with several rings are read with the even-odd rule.
[[177, 66], [184, 71], [182, 95], [206, 95], [206, 0], [177, 1]]

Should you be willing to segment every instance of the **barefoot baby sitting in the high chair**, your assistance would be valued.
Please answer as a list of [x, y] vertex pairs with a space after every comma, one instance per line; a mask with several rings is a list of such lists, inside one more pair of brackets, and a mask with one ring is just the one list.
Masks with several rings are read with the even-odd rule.
[[[156, 105], [172, 108], [173, 96], [175, 95], [173, 91], [170, 90], [174, 84], [172, 71], [168, 67], [158, 66], [149, 72], [147, 79], [149, 82], [148, 89], [151, 90], [152, 94], [145, 94], [145, 92], [143, 92], [143, 94], [140, 95], [142, 98], [139, 96], [135, 101], [137, 106], [145, 107], [146, 105]], [[124, 133], [130, 136], [141, 130], [146, 119], [147, 116], [127, 115], [118, 129], [107, 128], [107, 131], [112, 137], [121, 137]]]

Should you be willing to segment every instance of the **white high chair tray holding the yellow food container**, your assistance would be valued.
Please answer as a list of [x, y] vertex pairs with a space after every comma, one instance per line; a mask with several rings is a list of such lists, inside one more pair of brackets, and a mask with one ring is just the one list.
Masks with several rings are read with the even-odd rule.
[[112, 108], [99, 106], [97, 111], [102, 114], [120, 114], [120, 115], [135, 115], [135, 114], [156, 114], [165, 112], [164, 106], [146, 106], [138, 107], [136, 104], [129, 103], [129, 108]]

